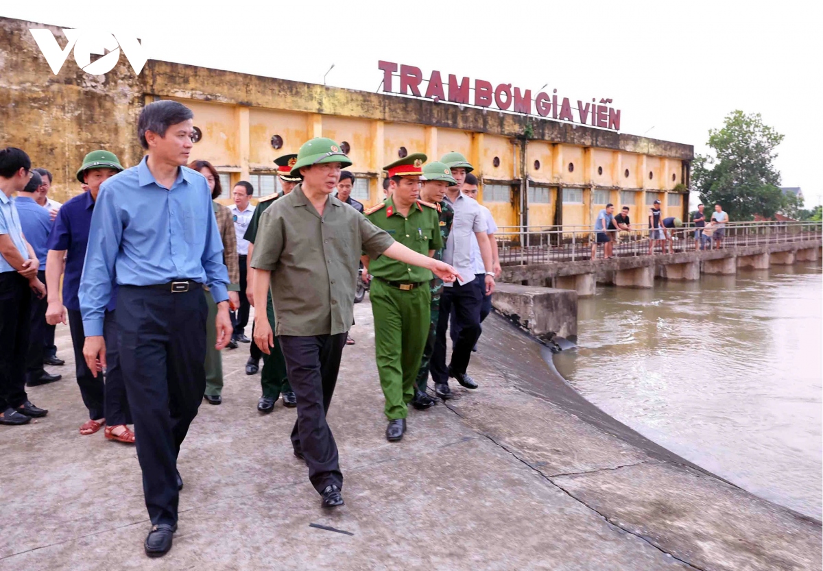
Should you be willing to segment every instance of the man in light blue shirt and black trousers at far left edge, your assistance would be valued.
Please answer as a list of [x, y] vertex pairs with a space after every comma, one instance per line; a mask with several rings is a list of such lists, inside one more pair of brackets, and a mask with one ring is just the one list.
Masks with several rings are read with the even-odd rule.
[[25, 425], [49, 411], [26, 395], [26, 353], [29, 350], [30, 291], [42, 297], [37, 279], [40, 262], [26, 242], [12, 194], [31, 178], [31, 160], [13, 146], [0, 151], [0, 425]]

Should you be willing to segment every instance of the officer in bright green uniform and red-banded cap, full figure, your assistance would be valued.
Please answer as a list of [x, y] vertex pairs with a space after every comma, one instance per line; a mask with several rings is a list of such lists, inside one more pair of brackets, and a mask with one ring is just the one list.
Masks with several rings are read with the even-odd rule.
[[[384, 167], [391, 196], [365, 211], [369, 221], [416, 253], [432, 256], [443, 248], [437, 207], [422, 202], [420, 177], [425, 155], [406, 156]], [[425, 341], [430, 329], [432, 273], [381, 256], [369, 264], [374, 276], [371, 309], [374, 313], [374, 352], [380, 386], [386, 397], [386, 439], [400, 440], [406, 432], [407, 405], [425, 409], [432, 402], [415, 390]]]

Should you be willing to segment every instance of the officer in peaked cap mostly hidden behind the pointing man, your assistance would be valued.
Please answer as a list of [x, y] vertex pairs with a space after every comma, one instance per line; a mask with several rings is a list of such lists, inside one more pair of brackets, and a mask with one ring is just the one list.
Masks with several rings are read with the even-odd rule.
[[[297, 155], [279, 156], [274, 160], [275, 165], [277, 165], [277, 176], [280, 177], [280, 182], [283, 187], [283, 196], [290, 193], [291, 189], [295, 188], [295, 185], [301, 180], [300, 174], [291, 174], [291, 167], [294, 166], [296, 162]], [[249, 228], [246, 229], [246, 233], [243, 236], [243, 238], [249, 240], [250, 243], [249, 256], [246, 258], [249, 262], [251, 262], [254, 251], [254, 239], [257, 238], [260, 216], [263, 215], [263, 212], [266, 211], [268, 207], [274, 204], [277, 198], [279, 198], [277, 193], [263, 197], [258, 201], [257, 208], [254, 209], [252, 220], [249, 222]], [[247, 275], [249, 277], [247, 279], [248, 285], [246, 286], [246, 290], [253, 291], [253, 267], [249, 267]], [[266, 300], [266, 315], [269, 325], [272, 326], [272, 331], [276, 331], [271, 292], [269, 292]], [[252, 326], [252, 337], [254, 337], [254, 326]], [[255, 350], [257, 353], [256, 359]], [[263, 372], [260, 374], [260, 385], [263, 388], [263, 395], [258, 401], [258, 411], [264, 413], [271, 412], [274, 409], [274, 403], [277, 402], [277, 397], [280, 397], [281, 393], [283, 395], [283, 406], [288, 408], [297, 406], [297, 397], [295, 397], [295, 393], [291, 390], [286, 374], [286, 359], [283, 357], [283, 352], [280, 349], [280, 344], [277, 342], [277, 337], [275, 337], [271, 355], [265, 355], [255, 343], [251, 344], [251, 351], [252, 355], [249, 357], [249, 363], [246, 364], [246, 373], [249, 372], [249, 365], [252, 364], [252, 361], [256, 366], [259, 362], [260, 355], [263, 356]]]

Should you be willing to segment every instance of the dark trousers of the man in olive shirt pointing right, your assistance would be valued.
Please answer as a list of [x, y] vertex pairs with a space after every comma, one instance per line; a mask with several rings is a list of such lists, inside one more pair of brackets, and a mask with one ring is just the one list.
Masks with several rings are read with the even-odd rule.
[[337, 443], [326, 422], [346, 333], [314, 337], [277, 337], [286, 357], [291, 390], [297, 397], [297, 421], [291, 445], [309, 465], [309, 480], [319, 493], [328, 485], [342, 490], [343, 475], [337, 462]]

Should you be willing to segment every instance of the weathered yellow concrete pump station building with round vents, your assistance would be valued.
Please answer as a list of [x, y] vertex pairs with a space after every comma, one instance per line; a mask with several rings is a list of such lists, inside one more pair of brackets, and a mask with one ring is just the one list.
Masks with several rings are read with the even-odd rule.
[[[53, 75], [27, 31], [55, 26], [0, 19], [2, 144], [21, 146], [55, 174], [55, 197], [79, 192], [73, 172], [94, 148], [126, 165], [141, 156], [137, 114], [154, 100], [177, 100], [194, 112], [193, 159], [210, 160], [224, 186], [253, 183], [258, 196], [277, 189], [273, 160], [311, 137], [347, 150], [366, 205], [383, 198], [381, 167], [405, 153], [434, 160], [463, 153], [481, 181], [480, 200], [500, 226], [591, 225], [607, 202], [647, 205], [685, 218], [690, 145], [493, 109], [459, 107], [397, 95], [352, 91], [205, 67], [150, 60], [135, 76], [121, 54], [104, 76], [89, 76], [71, 58]], [[229, 196], [230, 188], [226, 188]]]

